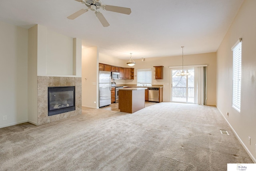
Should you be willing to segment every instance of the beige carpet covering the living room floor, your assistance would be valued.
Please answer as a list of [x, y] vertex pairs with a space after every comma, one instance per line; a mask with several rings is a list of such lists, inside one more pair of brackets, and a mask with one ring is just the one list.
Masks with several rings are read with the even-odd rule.
[[[222, 135], [220, 129], [230, 135]], [[216, 107], [157, 103], [0, 129], [0, 170], [226, 171], [253, 163]]]

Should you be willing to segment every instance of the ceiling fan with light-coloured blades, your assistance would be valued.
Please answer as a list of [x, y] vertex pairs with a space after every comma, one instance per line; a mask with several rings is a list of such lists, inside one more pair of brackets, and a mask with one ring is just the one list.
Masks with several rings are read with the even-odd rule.
[[101, 0], [75, 0], [78, 1], [82, 4], [85, 4], [88, 8], [83, 8], [77, 12], [75, 12], [74, 14], [68, 16], [67, 18], [70, 20], [74, 20], [75, 18], [79, 17], [80, 15], [84, 14], [85, 12], [87, 12], [89, 9], [92, 11], [95, 11], [96, 17], [100, 20], [102, 26], [104, 27], [108, 27], [108, 21], [106, 20], [106, 18], [103, 16], [103, 14], [98, 11], [99, 8], [102, 8], [103, 10], [106, 11], [112, 11], [112, 12], [118, 12], [118, 13], [122, 13], [122, 14], [131, 14], [131, 9], [130, 8], [124, 8], [124, 7], [120, 7], [120, 6], [112, 6], [112, 5], [102, 5]]

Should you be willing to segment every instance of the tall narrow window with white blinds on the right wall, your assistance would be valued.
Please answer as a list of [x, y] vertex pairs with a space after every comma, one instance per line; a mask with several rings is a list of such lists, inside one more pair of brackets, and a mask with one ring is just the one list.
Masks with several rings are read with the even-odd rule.
[[242, 76], [242, 39], [233, 46], [233, 90], [232, 107], [240, 112]]

